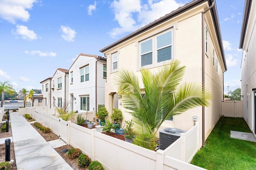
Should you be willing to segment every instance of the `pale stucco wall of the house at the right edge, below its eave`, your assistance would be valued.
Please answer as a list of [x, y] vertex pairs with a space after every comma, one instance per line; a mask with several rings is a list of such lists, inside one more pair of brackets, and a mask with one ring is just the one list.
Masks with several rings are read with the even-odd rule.
[[[254, 92], [256, 88], [256, 2], [252, 1], [249, 19], [244, 37], [241, 64], [241, 95], [243, 96], [243, 117], [250, 129], [254, 127]], [[248, 105], [247, 105], [248, 103]], [[248, 107], [247, 107], [248, 106]]]

